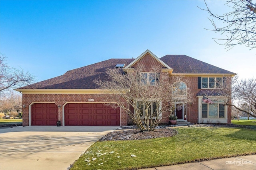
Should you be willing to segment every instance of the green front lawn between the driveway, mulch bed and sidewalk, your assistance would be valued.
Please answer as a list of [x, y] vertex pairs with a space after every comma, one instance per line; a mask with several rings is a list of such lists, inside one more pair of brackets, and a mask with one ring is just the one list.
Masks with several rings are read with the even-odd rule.
[[177, 130], [174, 137], [98, 141], [80, 156], [71, 170], [130, 170], [256, 153], [256, 130], [227, 127]]

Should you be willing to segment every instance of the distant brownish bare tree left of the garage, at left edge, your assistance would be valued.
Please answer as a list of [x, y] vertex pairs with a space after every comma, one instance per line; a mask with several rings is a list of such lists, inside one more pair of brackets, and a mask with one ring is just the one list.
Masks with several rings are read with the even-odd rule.
[[13, 90], [9, 90], [0, 99], [0, 111], [6, 115], [17, 117], [22, 111], [22, 96]]

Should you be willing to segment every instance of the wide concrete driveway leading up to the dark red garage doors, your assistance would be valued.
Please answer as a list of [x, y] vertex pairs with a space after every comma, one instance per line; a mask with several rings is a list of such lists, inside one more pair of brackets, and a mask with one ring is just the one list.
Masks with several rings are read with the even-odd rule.
[[0, 129], [0, 170], [66, 170], [118, 127], [30, 126]]

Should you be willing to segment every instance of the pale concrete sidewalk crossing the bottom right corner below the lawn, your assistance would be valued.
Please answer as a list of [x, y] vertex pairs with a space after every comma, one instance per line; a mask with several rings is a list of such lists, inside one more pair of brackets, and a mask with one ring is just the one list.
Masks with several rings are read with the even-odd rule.
[[237, 156], [142, 170], [256, 170], [256, 155]]

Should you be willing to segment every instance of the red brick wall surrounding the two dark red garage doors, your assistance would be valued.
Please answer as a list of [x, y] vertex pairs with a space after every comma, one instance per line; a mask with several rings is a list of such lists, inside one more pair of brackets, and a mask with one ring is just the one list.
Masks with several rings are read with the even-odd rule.
[[[88, 99], [94, 99], [94, 103], [106, 103], [110, 102], [111, 95], [107, 94], [22, 94], [22, 105], [26, 105], [23, 108], [23, 125], [29, 125], [29, 105], [33, 102], [42, 103], [42, 102], [49, 102], [55, 103], [58, 106], [61, 106], [58, 109], [58, 120], [62, 123], [62, 106], [68, 102], [82, 102], [82, 103], [89, 103]], [[119, 100], [123, 100], [120, 98]], [[92, 102], [93, 103], [93, 102]], [[125, 103], [125, 102], [124, 102]], [[128, 123], [128, 115], [121, 109], [120, 111], [120, 125], [125, 126]]]

